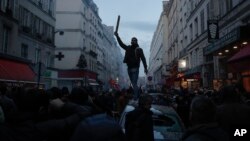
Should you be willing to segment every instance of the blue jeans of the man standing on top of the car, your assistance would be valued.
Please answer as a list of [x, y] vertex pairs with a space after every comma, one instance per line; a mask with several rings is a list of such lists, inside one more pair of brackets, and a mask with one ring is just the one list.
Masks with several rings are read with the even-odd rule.
[[133, 98], [137, 99], [139, 97], [139, 89], [137, 86], [137, 80], [138, 80], [138, 76], [139, 76], [139, 68], [128, 69], [128, 76], [129, 76], [129, 79], [131, 81], [131, 84], [132, 84], [132, 87], [134, 90]]

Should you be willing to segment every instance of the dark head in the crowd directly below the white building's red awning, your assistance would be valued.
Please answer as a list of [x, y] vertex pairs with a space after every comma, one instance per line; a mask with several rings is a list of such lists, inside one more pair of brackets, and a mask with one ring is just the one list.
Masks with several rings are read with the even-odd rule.
[[75, 87], [69, 95], [69, 101], [83, 105], [88, 101], [88, 92], [82, 87]]

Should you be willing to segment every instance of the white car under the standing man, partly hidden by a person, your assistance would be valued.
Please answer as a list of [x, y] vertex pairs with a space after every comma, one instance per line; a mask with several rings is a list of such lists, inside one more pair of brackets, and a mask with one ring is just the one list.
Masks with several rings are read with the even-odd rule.
[[[121, 115], [119, 124], [125, 132], [126, 114], [135, 109], [134, 105], [127, 105]], [[178, 141], [185, 130], [184, 124], [172, 107], [152, 105], [154, 139], [155, 141]]]

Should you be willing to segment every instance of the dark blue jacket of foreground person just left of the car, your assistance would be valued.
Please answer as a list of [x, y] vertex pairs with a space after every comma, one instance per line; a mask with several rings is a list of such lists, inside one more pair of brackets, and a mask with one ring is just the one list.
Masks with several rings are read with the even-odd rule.
[[71, 141], [124, 141], [119, 124], [106, 114], [98, 114], [83, 120], [76, 128]]

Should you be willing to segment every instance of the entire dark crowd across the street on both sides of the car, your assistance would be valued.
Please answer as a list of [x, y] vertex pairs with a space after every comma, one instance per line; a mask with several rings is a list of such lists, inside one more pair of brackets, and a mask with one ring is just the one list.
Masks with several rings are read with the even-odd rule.
[[[185, 124], [183, 141], [227, 141], [236, 128], [250, 127], [248, 94], [237, 85], [209, 93], [186, 90], [178, 94], [162, 93]], [[127, 114], [125, 134], [118, 120], [128, 101], [133, 99], [131, 88], [96, 93], [90, 88], [75, 87], [69, 92], [67, 87], [49, 90], [25, 86], [9, 88], [2, 83], [0, 140], [151, 141], [153, 121], [149, 109], [152, 101], [145, 94], [143, 96], [139, 98], [138, 108]], [[131, 128], [128, 124], [131, 119], [140, 121], [142, 131]]]

